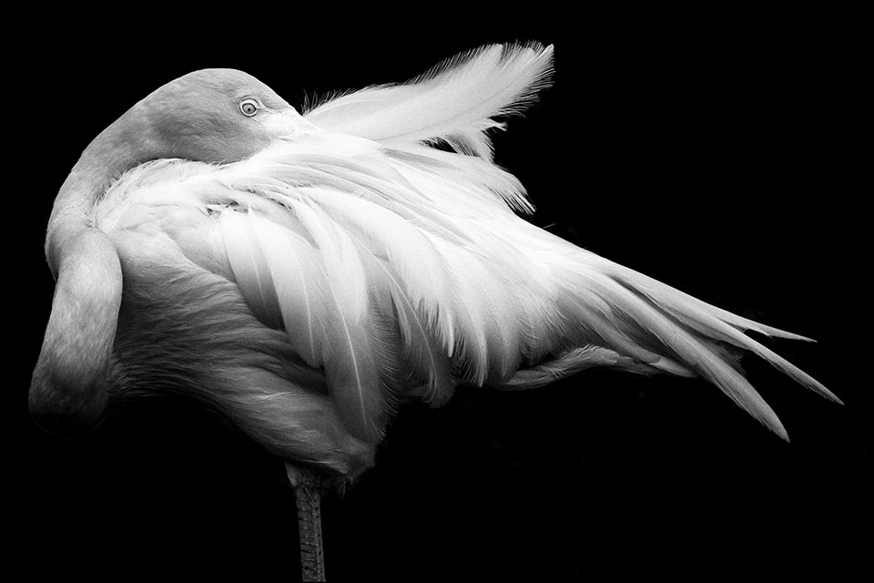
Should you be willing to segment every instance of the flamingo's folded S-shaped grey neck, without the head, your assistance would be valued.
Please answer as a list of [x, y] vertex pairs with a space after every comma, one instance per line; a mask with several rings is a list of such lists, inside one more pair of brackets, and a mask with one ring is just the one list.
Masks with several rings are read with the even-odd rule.
[[53, 433], [82, 433], [106, 410], [122, 272], [115, 245], [92, 225], [93, 210], [111, 180], [141, 157], [110, 126], [86, 148], [55, 199], [46, 233], [55, 298], [29, 395], [36, 422]]

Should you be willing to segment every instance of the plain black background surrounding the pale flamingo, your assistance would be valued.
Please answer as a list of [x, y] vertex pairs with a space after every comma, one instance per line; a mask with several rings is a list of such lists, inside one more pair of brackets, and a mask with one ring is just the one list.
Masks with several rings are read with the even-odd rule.
[[869, 320], [860, 307], [869, 186], [856, 181], [863, 74], [852, 15], [629, 8], [543, 23], [523, 15], [513, 26], [371, 15], [340, 27], [325, 18], [339, 8], [317, 8], [319, 18], [237, 5], [215, 23], [115, 15], [111, 26], [34, 30], [15, 47], [7, 130], [21, 182], [6, 193], [7, 212], [17, 205], [7, 247], [21, 263], [6, 284], [15, 562], [92, 578], [299, 576], [281, 461], [212, 414], [154, 400], [75, 441], [29, 421], [53, 290], [46, 220], [88, 141], [196, 68], [247, 70], [297, 105], [518, 39], [556, 46], [554, 87], [494, 138], [498, 163], [538, 207], [534, 221], [817, 339], [766, 342], [846, 404], [749, 358], [791, 444], [715, 388], [669, 377], [584, 373], [531, 393], [464, 390], [441, 410], [410, 407], [377, 466], [324, 501], [330, 580], [848, 570], [869, 544], [871, 487], [870, 342], [856, 332]]

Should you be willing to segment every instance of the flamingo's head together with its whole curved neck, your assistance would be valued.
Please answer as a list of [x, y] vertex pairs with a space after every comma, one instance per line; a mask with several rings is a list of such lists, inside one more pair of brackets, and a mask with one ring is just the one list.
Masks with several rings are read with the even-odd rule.
[[56, 290], [29, 396], [38, 424], [80, 434], [106, 409], [122, 271], [112, 241], [92, 220], [112, 182], [155, 159], [246, 159], [309, 127], [255, 77], [204, 69], [159, 87], [88, 145], [57, 194], [46, 234]]

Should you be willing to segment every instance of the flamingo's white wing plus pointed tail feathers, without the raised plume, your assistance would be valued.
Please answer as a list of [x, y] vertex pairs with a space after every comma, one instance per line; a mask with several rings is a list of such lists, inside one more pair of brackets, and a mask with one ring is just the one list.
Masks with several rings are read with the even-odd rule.
[[701, 375], [785, 435], [725, 346], [835, 398], [741, 331], [800, 337], [537, 229], [507, 203], [522, 187], [485, 159], [324, 134], [227, 167], [143, 167], [114, 190], [126, 184], [107, 195], [126, 200], [122, 215], [206, 221], [196, 237], [164, 232], [288, 332], [361, 438], [378, 440], [406, 394], [441, 404], [457, 384], [525, 388], [591, 365]]

